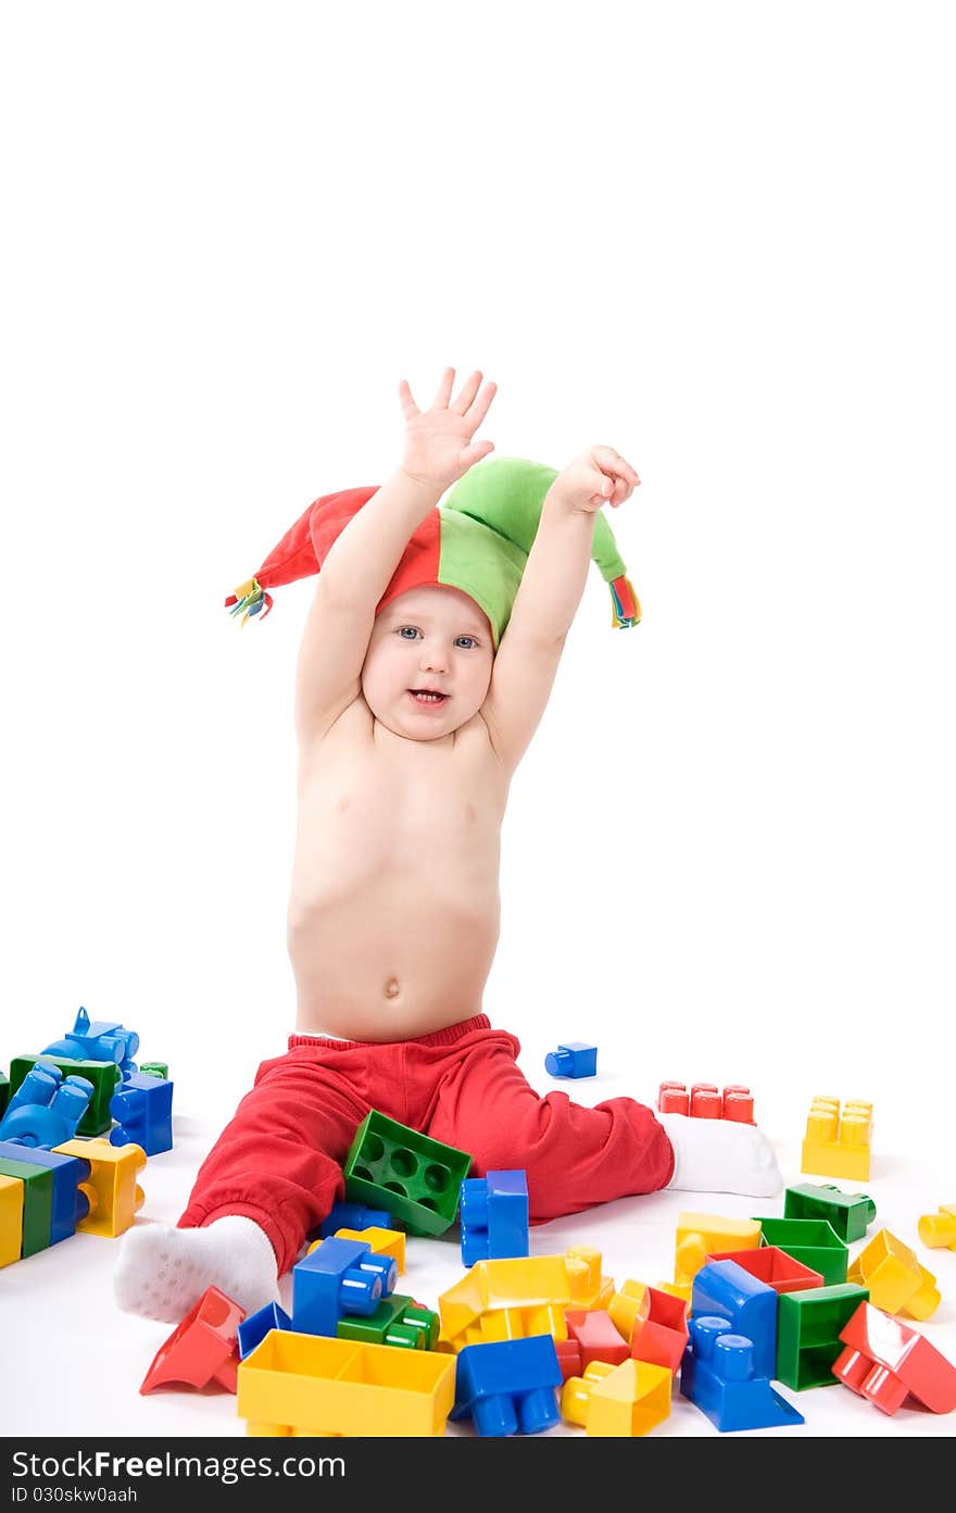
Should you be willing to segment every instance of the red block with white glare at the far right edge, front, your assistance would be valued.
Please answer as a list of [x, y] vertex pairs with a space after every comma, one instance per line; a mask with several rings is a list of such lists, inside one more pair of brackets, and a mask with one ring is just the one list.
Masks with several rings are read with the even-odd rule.
[[840, 1331], [843, 1353], [833, 1375], [883, 1413], [912, 1395], [930, 1413], [956, 1409], [956, 1365], [908, 1324], [873, 1303], [861, 1303]]

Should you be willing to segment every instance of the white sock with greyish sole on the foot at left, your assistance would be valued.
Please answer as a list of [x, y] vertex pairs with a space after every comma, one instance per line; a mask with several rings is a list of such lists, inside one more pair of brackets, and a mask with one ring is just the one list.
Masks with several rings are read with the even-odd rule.
[[113, 1295], [127, 1313], [178, 1324], [207, 1288], [247, 1316], [278, 1303], [272, 1241], [254, 1219], [230, 1213], [206, 1229], [144, 1224], [123, 1236]]

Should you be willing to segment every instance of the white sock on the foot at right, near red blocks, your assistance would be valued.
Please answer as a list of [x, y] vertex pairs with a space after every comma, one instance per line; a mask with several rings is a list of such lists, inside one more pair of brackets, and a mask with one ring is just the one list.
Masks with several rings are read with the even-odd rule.
[[669, 1188], [773, 1198], [784, 1186], [773, 1147], [756, 1124], [696, 1120], [687, 1114], [658, 1114], [656, 1120], [673, 1145]]

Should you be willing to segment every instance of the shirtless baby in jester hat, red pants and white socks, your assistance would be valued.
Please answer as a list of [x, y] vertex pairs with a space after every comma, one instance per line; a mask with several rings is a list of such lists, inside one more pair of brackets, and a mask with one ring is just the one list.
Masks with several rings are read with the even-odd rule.
[[495, 384], [473, 372], [452, 399], [454, 378], [424, 412], [402, 381], [398, 471], [316, 501], [237, 592], [268, 613], [268, 586], [321, 569], [296, 670], [296, 1032], [259, 1068], [177, 1227], [126, 1235], [115, 1295], [129, 1312], [175, 1322], [210, 1285], [247, 1312], [277, 1300], [345, 1195], [371, 1109], [469, 1151], [472, 1176], [522, 1168], [537, 1223], [661, 1188], [781, 1189], [753, 1126], [540, 1097], [517, 1039], [483, 1014], [508, 785], [591, 555], [616, 623], [640, 613], [601, 514], [640, 478], [611, 446], [563, 472], [475, 466], [493, 451], [473, 436]]

